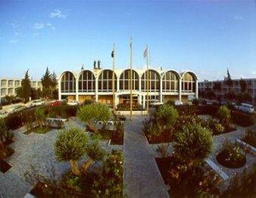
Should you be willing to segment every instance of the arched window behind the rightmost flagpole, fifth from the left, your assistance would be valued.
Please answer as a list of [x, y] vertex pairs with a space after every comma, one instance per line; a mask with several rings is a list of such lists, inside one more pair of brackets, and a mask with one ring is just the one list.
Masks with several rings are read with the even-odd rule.
[[[160, 91], [160, 76], [155, 70], [148, 70], [149, 91]], [[142, 75], [142, 91], [147, 91], [147, 72]]]

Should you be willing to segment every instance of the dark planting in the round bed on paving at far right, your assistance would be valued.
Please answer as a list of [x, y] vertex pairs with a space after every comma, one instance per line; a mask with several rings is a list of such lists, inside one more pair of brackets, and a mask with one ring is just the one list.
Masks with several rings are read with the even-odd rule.
[[246, 157], [242, 149], [229, 141], [223, 143], [223, 148], [216, 156], [217, 162], [227, 168], [236, 169], [245, 165]]

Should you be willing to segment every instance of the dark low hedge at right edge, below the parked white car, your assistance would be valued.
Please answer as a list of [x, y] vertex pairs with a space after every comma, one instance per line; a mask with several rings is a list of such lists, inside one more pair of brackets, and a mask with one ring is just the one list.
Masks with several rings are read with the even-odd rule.
[[254, 116], [251, 114], [234, 110], [231, 112], [231, 118], [236, 125], [241, 125], [244, 127], [254, 125]]

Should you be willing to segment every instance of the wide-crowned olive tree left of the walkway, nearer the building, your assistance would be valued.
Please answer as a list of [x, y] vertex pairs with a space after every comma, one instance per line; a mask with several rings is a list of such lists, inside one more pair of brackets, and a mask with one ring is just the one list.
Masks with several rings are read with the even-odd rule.
[[104, 123], [111, 119], [113, 116], [110, 107], [105, 104], [88, 104], [80, 108], [78, 111], [78, 117], [86, 122], [86, 125], [94, 131], [98, 132], [95, 123], [103, 121]]

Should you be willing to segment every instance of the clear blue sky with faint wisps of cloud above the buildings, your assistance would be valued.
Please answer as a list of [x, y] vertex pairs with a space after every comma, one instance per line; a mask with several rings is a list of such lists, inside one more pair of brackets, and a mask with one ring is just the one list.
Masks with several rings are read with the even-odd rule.
[[255, 0], [3, 1], [0, 0], [0, 77], [41, 79], [46, 67], [92, 70], [192, 70], [201, 80], [256, 78]]

